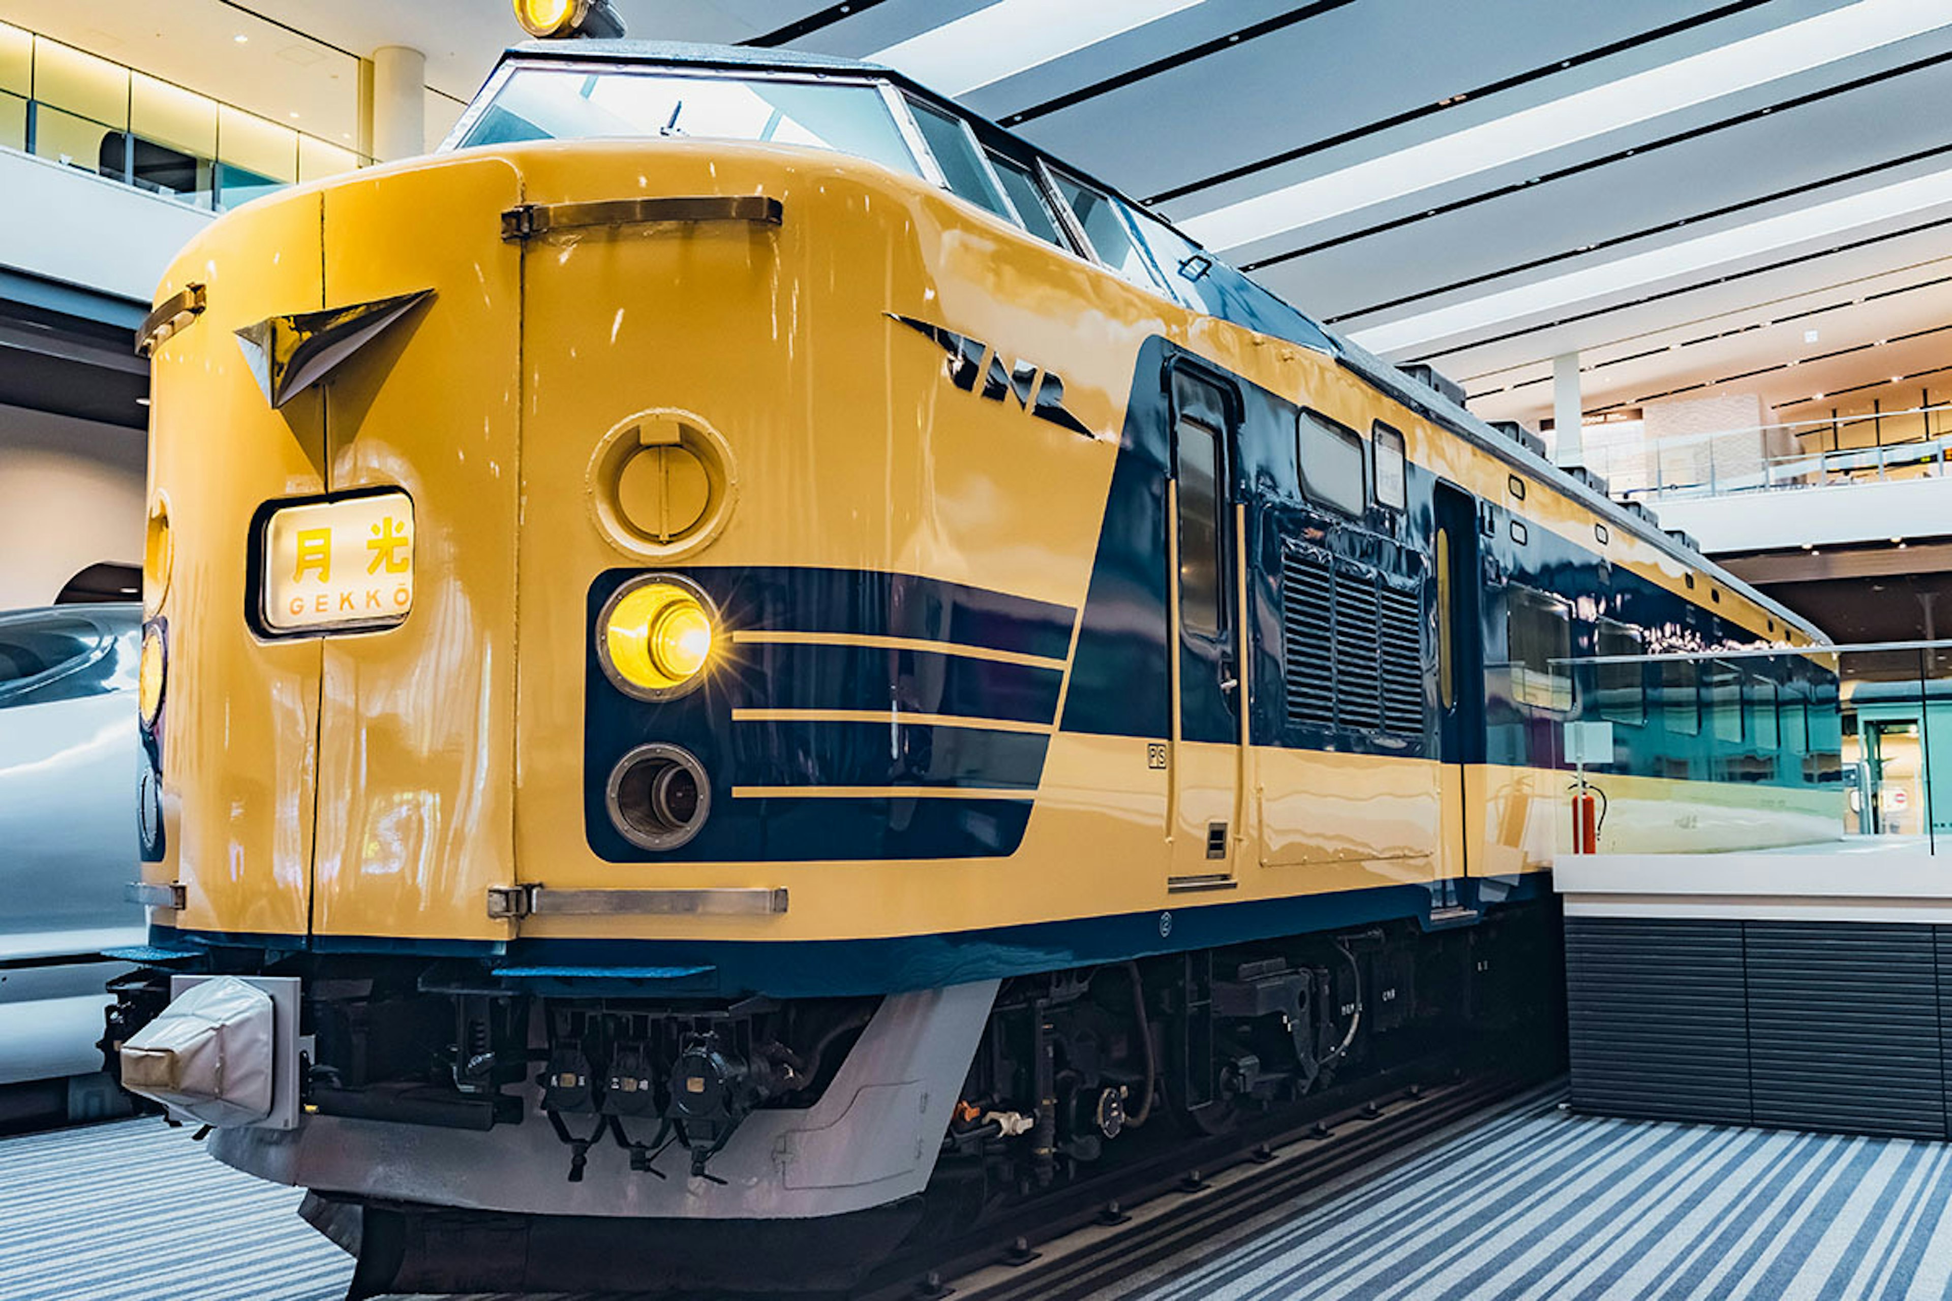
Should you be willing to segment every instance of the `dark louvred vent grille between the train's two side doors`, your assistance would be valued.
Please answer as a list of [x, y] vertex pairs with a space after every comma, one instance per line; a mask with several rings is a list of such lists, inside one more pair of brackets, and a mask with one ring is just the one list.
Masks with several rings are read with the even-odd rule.
[[1423, 597], [1312, 546], [1281, 558], [1288, 722], [1421, 735]]

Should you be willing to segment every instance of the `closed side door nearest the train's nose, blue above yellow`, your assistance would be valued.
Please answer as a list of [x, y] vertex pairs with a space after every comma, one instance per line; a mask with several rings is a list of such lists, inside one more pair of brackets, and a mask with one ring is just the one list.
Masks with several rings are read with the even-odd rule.
[[1241, 845], [1238, 404], [1173, 369], [1171, 889], [1226, 889]]

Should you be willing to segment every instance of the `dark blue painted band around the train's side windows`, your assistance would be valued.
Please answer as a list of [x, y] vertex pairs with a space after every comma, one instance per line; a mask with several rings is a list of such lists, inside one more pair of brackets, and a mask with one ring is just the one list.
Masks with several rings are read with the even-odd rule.
[[[1312, 507], [1298, 474], [1296, 415], [1288, 398], [1226, 376], [1163, 339], [1140, 347], [1132, 396], [1113, 468], [1105, 519], [1091, 566], [1091, 587], [1078, 626], [1078, 651], [1064, 702], [1064, 729], [1103, 735], [1165, 737], [1169, 729], [1169, 605], [1165, 480], [1171, 472], [1169, 380], [1175, 367], [1195, 367], [1202, 378], [1232, 388], [1238, 404], [1230, 417], [1238, 425], [1238, 456], [1230, 466], [1234, 499], [1247, 505], [1247, 536], [1240, 554], [1247, 558], [1247, 677], [1251, 706], [1249, 735], [1255, 745], [1323, 749], [1370, 755], [1437, 757], [1435, 722], [1417, 735], [1384, 735], [1357, 728], [1308, 726], [1288, 718], [1286, 646], [1282, 638], [1281, 558], [1290, 540], [1306, 540], [1341, 560], [1384, 573], [1423, 579], [1423, 683], [1425, 716], [1437, 712], [1433, 605], [1435, 583], [1427, 556], [1435, 550], [1433, 493], [1437, 478], [1423, 466], [1407, 466], [1407, 509], [1392, 511], [1370, 503], [1357, 521]], [[1532, 708], [1511, 696], [1507, 646], [1507, 593], [1526, 585], [1567, 601], [1573, 655], [1595, 655], [1597, 622], [1608, 618], [1638, 628], [1647, 650], [1706, 650], [1714, 646], [1759, 646], [1759, 638], [1714, 611], [1708, 595], [1712, 577], [1694, 599], [1657, 587], [1603, 554], [1534, 525], [1517, 540], [1509, 499], [1484, 503], [1489, 531], [1480, 581], [1482, 626], [1462, 630], [1478, 636], [1485, 675], [1482, 731], [1468, 747], [1466, 761], [1513, 767], [1566, 767], [1560, 722], [1564, 712]], [[1536, 503], [1532, 503], [1536, 505]], [[1517, 513], [1523, 517], [1523, 509]], [[1696, 603], [1698, 601], [1698, 603]], [[1197, 650], [1183, 646], [1183, 653]], [[1306, 653], [1327, 653], [1310, 646]], [[1704, 720], [1696, 731], [1667, 726], [1659, 683], [1647, 673], [1647, 716], [1640, 724], [1618, 724], [1614, 741], [1620, 763], [1610, 772], [1690, 780], [1741, 780], [1765, 786], [1835, 788], [1839, 737], [1837, 681], [1810, 661], [1749, 661], [1749, 671], [1796, 687], [1811, 702], [1808, 753], [1786, 745], [1759, 745], [1751, 739], [1716, 737]], [[1228, 741], [1238, 722], [1232, 702], [1214, 690], [1214, 673], [1189, 669], [1183, 683], [1181, 731], [1191, 739]], [[1589, 677], [1589, 675], [1583, 675]], [[1692, 690], [1692, 685], [1687, 689]], [[1821, 724], [1821, 726], [1819, 726]], [[1603, 774], [1605, 776], [1605, 774]]]

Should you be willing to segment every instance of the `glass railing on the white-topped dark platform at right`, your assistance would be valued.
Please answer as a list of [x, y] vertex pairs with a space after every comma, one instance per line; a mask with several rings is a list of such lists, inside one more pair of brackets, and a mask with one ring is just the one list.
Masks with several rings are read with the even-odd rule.
[[1575, 809], [1564, 850], [1952, 852], [1952, 642], [1542, 669], [1569, 798], [1589, 790], [1599, 819], [1581, 847]]

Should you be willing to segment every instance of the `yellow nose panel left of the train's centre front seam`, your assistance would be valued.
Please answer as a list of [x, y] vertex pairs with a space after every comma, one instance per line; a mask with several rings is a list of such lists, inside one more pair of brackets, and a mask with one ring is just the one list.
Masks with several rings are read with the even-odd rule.
[[310, 911], [318, 640], [258, 642], [244, 622], [244, 546], [271, 497], [324, 490], [324, 402], [273, 412], [234, 330], [316, 310], [320, 195], [277, 195], [193, 242], [158, 298], [205, 285], [209, 308], [152, 357], [148, 492], [168, 503], [174, 564], [162, 706], [164, 860], [203, 930], [305, 934]]

